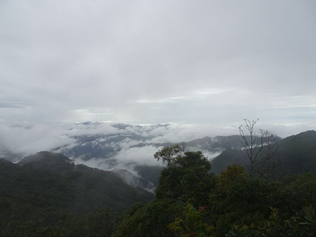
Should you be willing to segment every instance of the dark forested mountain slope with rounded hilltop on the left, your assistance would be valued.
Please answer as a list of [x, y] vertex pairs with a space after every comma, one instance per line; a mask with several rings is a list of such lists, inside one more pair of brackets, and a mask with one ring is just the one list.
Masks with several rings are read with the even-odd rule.
[[0, 160], [0, 223], [41, 219], [55, 225], [101, 209], [123, 212], [153, 194], [125, 184], [112, 172], [75, 165], [61, 154], [39, 152], [18, 164]]

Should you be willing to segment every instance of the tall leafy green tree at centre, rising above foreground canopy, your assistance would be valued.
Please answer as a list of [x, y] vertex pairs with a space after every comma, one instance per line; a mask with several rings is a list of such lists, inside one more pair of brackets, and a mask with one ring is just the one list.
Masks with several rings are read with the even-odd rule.
[[215, 176], [209, 173], [211, 164], [201, 151], [185, 151], [185, 143], [165, 147], [157, 151], [155, 159], [167, 167], [160, 173], [155, 198], [170, 198], [190, 202], [198, 207], [208, 202], [215, 187]]

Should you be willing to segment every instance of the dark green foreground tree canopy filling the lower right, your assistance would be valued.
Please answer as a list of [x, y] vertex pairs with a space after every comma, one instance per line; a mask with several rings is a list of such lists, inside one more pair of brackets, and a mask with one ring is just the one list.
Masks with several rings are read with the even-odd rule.
[[315, 175], [251, 178], [240, 165], [212, 175], [201, 152], [178, 148], [155, 154], [167, 163], [155, 199], [125, 213], [114, 236], [315, 236]]

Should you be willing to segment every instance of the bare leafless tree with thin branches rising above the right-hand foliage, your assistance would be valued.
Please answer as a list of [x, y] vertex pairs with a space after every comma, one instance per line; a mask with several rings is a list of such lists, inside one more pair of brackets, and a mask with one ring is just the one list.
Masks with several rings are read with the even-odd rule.
[[[273, 134], [269, 134], [267, 130], [259, 129], [259, 134], [254, 130], [255, 124], [259, 121], [244, 119], [245, 125], [239, 126], [239, 132], [244, 142], [243, 147], [246, 149], [246, 153], [249, 159], [249, 163], [246, 164], [251, 177], [259, 175], [259, 177], [265, 177], [269, 174], [274, 178], [274, 169], [277, 166], [277, 162], [272, 161], [272, 156], [278, 149], [276, 137]], [[247, 139], [247, 133], [249, 139]], [[266, 145], [266, 152], [263, 154], [261, 151]]]

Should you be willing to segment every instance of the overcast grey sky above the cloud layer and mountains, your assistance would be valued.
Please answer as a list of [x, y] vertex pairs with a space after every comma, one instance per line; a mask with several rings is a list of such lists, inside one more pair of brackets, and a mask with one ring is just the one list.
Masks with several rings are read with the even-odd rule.
[[0, 1], [0, 118], [316, 123], [316, 1]]

